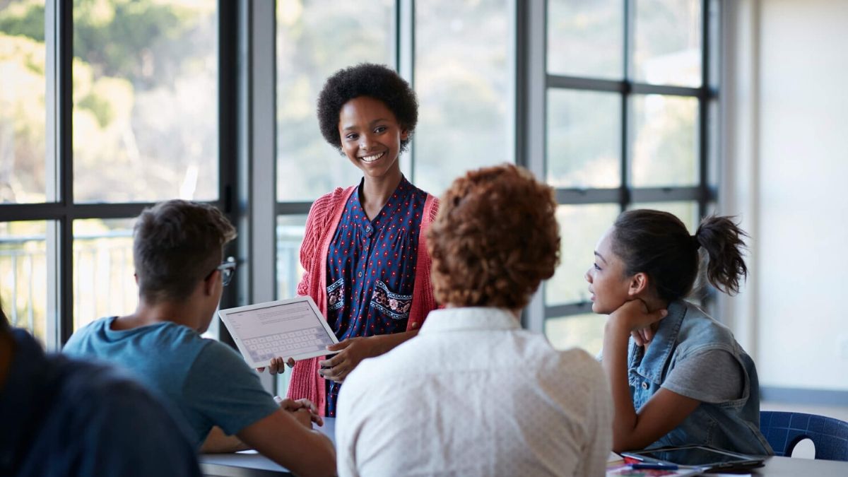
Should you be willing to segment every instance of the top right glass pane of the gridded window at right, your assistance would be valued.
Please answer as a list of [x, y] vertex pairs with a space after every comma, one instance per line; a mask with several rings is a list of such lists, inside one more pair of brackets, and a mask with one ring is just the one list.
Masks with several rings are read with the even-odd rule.
[[633, 77], [651, 84], [701, 84], [699, 0], [636, 0]]

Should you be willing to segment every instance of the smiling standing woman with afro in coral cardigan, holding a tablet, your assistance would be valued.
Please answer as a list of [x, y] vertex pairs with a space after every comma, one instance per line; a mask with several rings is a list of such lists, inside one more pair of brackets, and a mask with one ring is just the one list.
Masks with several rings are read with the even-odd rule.
[[[436, 308], [424, 231], [438, 200], [399, 165], [417, 121], [416, 94], [382, 65], [338, 70], [318, 97], [321, 134], [362, 171], [359, 184], [315, 201], [300, 248], [298, 295], [315, 300], [339, 343], [328, 347], [335, 356], [288, 359], [288, 396], [310, 399], [327, 417], [348, 373], [415, 336]], [[282, 372], [283, 357], [271, 373]]]

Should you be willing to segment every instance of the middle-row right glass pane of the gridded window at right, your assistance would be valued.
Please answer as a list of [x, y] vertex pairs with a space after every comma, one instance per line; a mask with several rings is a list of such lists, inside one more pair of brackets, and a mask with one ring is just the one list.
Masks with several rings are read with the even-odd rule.
[[631, 104], [633, 187], [697, 184], [698, 100], [649, 94]]

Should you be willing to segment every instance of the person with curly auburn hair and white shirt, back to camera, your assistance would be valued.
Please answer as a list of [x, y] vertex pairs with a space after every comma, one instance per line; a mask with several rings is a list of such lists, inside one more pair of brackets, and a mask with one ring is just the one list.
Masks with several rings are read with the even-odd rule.
[[444, 309], [415, 340], [362, 362], [338, 401], [339, 475], [601, 475], [603, 370], [523, 330], [560, 253], [553, 190], [516, 166], [471, 171], [427, 233]]

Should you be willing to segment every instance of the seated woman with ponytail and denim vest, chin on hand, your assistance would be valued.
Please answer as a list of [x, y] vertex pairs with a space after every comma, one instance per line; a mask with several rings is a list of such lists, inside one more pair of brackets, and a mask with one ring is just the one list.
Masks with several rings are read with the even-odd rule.
[[[689, 235], [678, 217], [628, 210], [601, 237], [586, 272], [592, 311], [609, 315], [602, 364], [613, 450], [700, 444], [772, 454], [759, 430], [756, 368], [730, 330], [685, 298], [706, 277], [733, 295], [747, 275], [746, 237], [711, 216]], [[701, 250], [704, 253], [701, 253]]]

